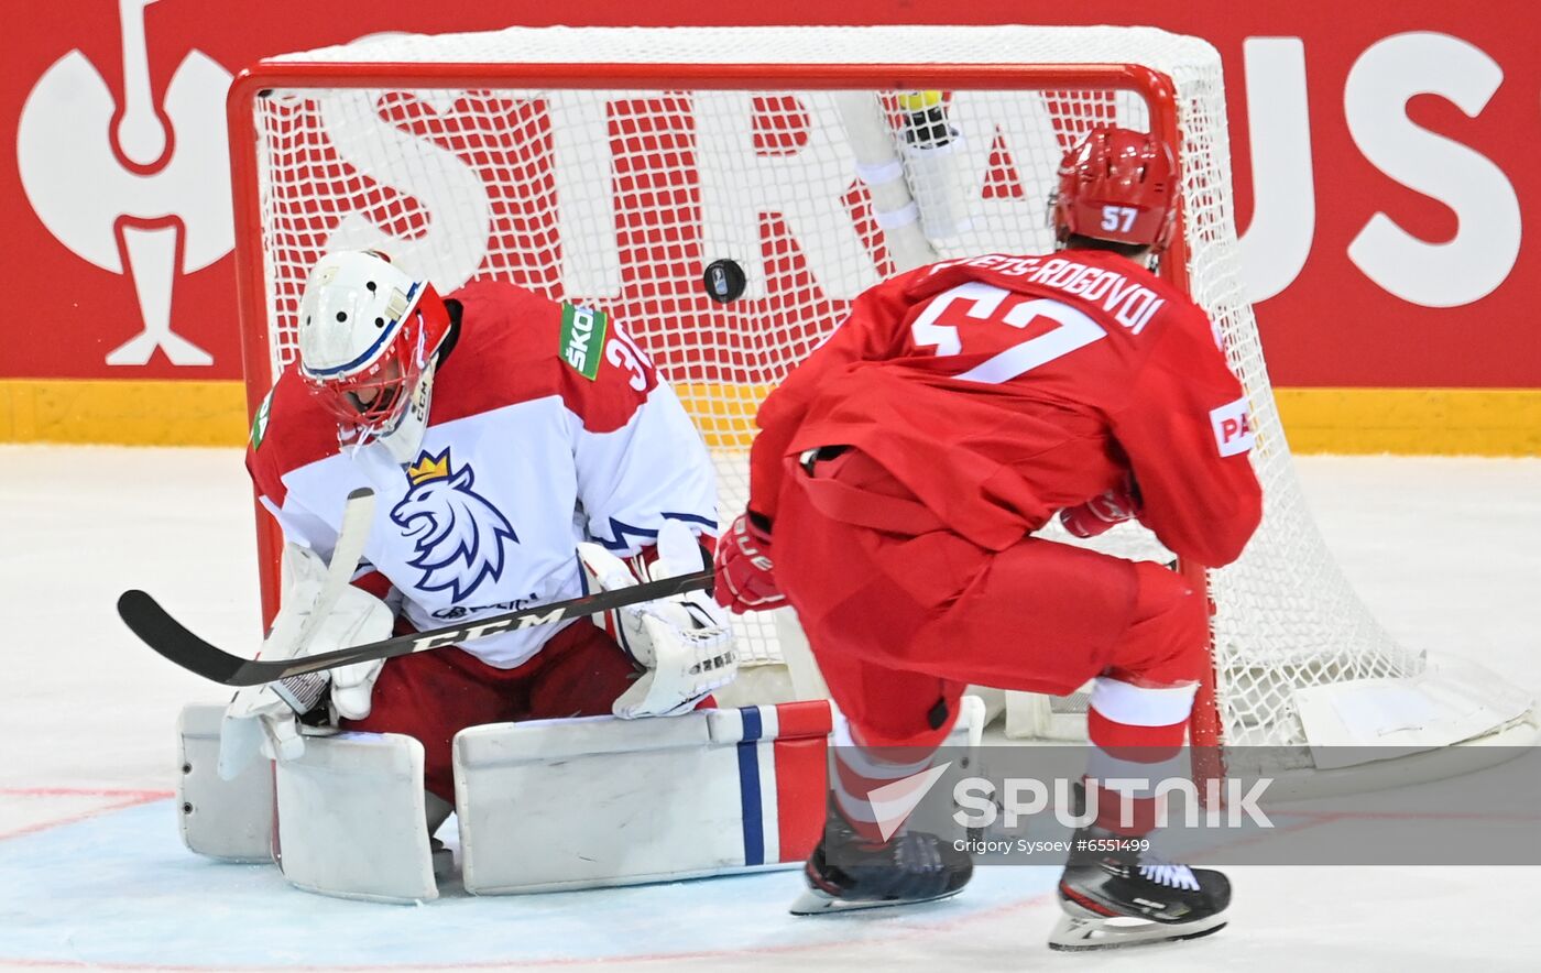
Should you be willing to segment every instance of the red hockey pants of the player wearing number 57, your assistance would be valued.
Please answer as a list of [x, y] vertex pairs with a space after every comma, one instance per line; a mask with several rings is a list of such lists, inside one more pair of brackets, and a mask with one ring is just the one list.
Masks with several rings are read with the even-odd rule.
[[1207, 665], [1207, 608], [1177, 574], [1034, 537], [979, 547], [857, 450], [789, 460], [772, 537], [831, 695], [874, 746], [935, 746], [969, 683], [1063, 695]]

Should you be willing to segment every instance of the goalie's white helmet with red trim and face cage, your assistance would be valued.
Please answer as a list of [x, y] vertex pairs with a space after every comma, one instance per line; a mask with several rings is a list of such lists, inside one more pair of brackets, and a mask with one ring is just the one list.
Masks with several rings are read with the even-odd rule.
[[374, 251], [316, 262], [299, 302], [300, 378], [344, 441], [388, 436], [450, 328], [444, 301]]

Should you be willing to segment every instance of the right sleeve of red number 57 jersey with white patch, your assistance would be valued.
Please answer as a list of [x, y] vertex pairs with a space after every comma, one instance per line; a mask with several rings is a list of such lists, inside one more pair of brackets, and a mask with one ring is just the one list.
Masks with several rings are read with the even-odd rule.
[[1193, 315], [1167, 330], [1111, 419], [1140, 490], [1140, 523], [1179, 557], [1219, 567], [1257, 527], [1262, 489], [1245, 392], [1202, 311]]

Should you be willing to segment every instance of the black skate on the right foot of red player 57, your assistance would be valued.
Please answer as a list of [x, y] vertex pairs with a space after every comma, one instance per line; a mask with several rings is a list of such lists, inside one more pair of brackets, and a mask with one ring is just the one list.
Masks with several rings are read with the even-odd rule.
[[1197, 939], [1225, 927], [1231, 884], [1224, 874], [1162, 862], [1130, 842], [1097, 827], [1076, 831], [1059, 885], [1065, 916], [1049, 933], [1051, 950]]

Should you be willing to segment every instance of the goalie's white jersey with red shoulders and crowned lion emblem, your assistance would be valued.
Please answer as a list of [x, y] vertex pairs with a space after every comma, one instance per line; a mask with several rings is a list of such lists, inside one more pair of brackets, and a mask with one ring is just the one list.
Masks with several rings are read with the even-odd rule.
[[[664, 520], [717, 535], [706, 447], [615, 321], [493, 281], [448, 299], [461, 304], [459, 332], [408, 464], [378, 443], [339, 447], [331, 413], [294, 367], [279, 376], [247, 467], [287, 540], [330, 555], [348, 492], [373, 487], [365, 560], [399, 592], [405, 618], [428, 629], [584, 594], [578, 541], [627, 557]], [[561, 628], [465, 649], [509, 669]]]

